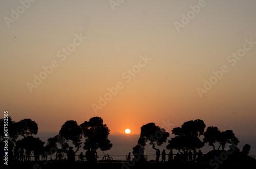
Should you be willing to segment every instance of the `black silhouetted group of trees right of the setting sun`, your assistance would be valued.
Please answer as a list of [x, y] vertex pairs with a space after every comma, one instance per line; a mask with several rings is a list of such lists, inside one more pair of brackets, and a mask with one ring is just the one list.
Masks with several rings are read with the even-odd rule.
[[[176, 127], [172, 130], [175, 137], [168, 140], [166, 149], [176, 149], [178, 151], [189, 151], [202, 148], [205, 143], [215, 149], [216, 144], [224, 150], [226, 144], [237, 146], [238, 138], [234, 135], [232, 130], [220, 131], [217, 127], [208, 127], [205, 131], [206, 125], [200, 119], [185, 122], [181, 127]], [[203, 140], [199, 137], [204, 136]], [[148, 123], [141, 127], [138, 145], [144, 147], [146, 142], [150, 145], [158, 146], [167, 141], [169, 133], [163, 128], [156, 126], [155, 123]]]

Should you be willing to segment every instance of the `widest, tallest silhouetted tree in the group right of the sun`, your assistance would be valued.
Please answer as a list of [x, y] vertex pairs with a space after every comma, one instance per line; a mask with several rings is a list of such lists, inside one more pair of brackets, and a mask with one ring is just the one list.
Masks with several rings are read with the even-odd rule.
[[174, 138], [168, 140], [166, 148], [176, 150], [196, 150], [204, 146], [204, 143], [199, 139], [204, 133], [205, 124], [202, 120], [191, 120], [183, 123], [181, 127], [176, 127], [172, 130]]

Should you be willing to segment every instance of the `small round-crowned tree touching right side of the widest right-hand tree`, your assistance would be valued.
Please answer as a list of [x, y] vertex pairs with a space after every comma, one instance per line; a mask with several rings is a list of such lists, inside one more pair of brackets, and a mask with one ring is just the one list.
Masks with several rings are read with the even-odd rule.
[[219, 142], [219, 139], [221, 137], [221, 131], [218, 129], [218, 127], [208, 127], [206, 131], [204, 132], [204, 143], [209, 143], [209, 146], [214, 147], [215, 149], [215, 143]]

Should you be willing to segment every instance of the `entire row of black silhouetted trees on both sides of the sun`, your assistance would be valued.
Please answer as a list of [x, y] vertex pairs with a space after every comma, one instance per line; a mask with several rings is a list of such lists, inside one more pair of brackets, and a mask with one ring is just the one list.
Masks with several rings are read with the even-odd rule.
[[[1, 128], [4, 128], [4, 121], [0, 121]], [[200, 119], [194, 121], [185, 122], [181, 127], [176, 127], [172, 130], [172, 134], [175, 137], [168, 140], [166, 149], [176, 149], [178, 151], [189, 151], [202, 148], [205, 143], [212, 146], [216, 150], [221, 148], [224, 150], [226, 144], [232, 144], [237, 146], [239, 143], [238, 138], [231, 130], [220, 131], [217, 127], [208, 127], [205, 131], [206, 125]], [[31, 119], [24, 119], [19, 122], [12, 121], [11, 117], [8, 117], [8, 130], [9, 130], [9, 149], [13, 149], [14, 144], [17, 148], [34, 151], [37, 154], [48, 152], [48, 154], [59, 153], [65, 154], [68, 152], [69, 144], [72, 142], [76, 150], [82, 147], [82, 138], [85, 138], [83, 143], [84, 150], [91, 150], [96, 153], [97, 149], [101, 151], [110, 150], [112, 144], [108, 139], [110, 130], [106, 124], [103, 124], [103, 120], [100, 117], [93, 117], [89, 121], [85, 121], [78, 125], [76, 121], [69, 120], [61, 126], [58, 135], [48, 139], [48, 144], [44, 146], [39, 138], [35, 138], [32, 135], [37, 134], [38, 126]], [[3, 144], [5, 137], [4, 131], [0, 132], [0, 141]], [[204, 136], [200, 139], [200, 136]], [[18, 136], [23, 136], [22, 139], [17, 140]], [[155, 123], [148, 123], [141, 127], [140, 137], [138, 139], [138, 145], [134, 148], [135, 152], [139, 148], [146, 146], [147, 142], [155, 147], [155, 144], [161, 146], [167, 142], [169, 133], [163, 128], [156, 126]], [[218, 145], [219, 144], [219, 145]], [[54, 151], [51, 151], [53, 150]], [[96, 153], [97, 155], [97, 153]]]

